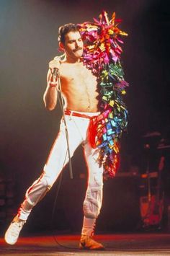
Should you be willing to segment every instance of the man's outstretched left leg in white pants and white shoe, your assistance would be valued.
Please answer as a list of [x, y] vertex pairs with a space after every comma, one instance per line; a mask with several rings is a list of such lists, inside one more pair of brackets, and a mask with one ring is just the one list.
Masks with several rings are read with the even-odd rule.
[[[75, 128], [72, 128], [72, 124], [70, 126], [68, 125], [71, 156], [73, 155], [76, 147], [81, 143], [81, 138], [79, 136], [74, 138], [74, 133]], [[19, 232], [30, 215], [32, 208], [45, 196], [48, 190], [50, 190], [50, 187], [52, 187], [67, 162], [68, 154], [66, 134], [63, 122], [61, 122], [61, 129], [58, 133], [58, 138], [55, 140], [53, 148], [50, 151], [50, 156], [48, 157], [48, 162], [45, 164], [44, 172], [42, 172], [40, 178], [33, 182], [32, 186], [27, 190], [25, 200], [20, 206], [17, 216], [15, 216], [12, 224], [6, 231], [5, 240], [8, 244], [15, 244], [17, 242]]]

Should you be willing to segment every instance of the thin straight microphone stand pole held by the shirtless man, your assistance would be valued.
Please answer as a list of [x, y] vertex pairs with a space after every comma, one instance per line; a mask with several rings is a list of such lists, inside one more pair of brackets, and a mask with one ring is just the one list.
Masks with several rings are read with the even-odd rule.
[[61, 97], [61, 109], [63, 112], [63, 121], [64, 121], [64, 126], [65, 126], [65, 131], [66, 131], [66, 141], [67, 141], [67, 149], [68, 149], [68, 163], [69, 163], [69, 172], [70, 172], [70, 178], [73, 179], [73, 169], [72, 169], [72, 164], [71, 164], [71, 152], [70, 152], [70, 147], [69, 147], [69, 141], [68, 141], [68, 128], [67, 128], [67, 123], [66, 123], [66, 115], [64, 112], [64, 102], [63, 102], [63, 97], [61, 94], [61, 79], [59, 75], [59, 71], [56, 71], [56, 76], [58, 79], [58, 91], [60, 92], [60, 97]]

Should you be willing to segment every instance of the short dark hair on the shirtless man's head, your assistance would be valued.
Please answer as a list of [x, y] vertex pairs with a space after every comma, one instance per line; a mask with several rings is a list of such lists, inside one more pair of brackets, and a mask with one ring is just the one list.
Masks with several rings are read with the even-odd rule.
[[59, 27], [58, 41], [64, 44], [65, 43], [65, 35], [71, 31], [73, 31], [73, 32], [79, 31], [78, 26], [73, 23], [68, 23], [68, 24], [65, 24], [65, 25]]

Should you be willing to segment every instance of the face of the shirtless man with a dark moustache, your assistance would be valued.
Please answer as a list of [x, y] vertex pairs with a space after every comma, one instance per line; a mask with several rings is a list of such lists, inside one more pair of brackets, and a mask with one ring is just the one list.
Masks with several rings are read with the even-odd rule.
[[78, 59], [81, 58], [83, 54], [84, 43], [81, 39], [79, 31], [70, 31], [65, 35], [65, 43], [63, 49], [66, 52], [66, 56]]

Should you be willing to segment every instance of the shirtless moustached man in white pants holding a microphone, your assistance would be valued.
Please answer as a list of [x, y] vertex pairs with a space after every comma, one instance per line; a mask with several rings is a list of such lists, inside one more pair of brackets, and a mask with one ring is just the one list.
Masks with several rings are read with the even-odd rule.
[[[47, 88], [44, 94], [45, 107], [53, 110], [58, 99], [61, 80], [61, 92], [65, 99], [65, 116], [68, 130], [68, 141], [71, 156], [76, 148], [82, 144], [88, 169], [88, 186], [84, 200], [84, 223], [81, 231], [79, 247], [87, 250], [102, 250], [103, 245], [91, 237], [94, 226], [102, 206], [103, 167], [97, 163], [98, 150], [92, 149], [88, 141], [88, 127], [91, 117], [99, 115], [97, 100], [97, 78], [86, 69], [82, 62], [84, 43], [76, 25], [63, 25], [59, 29], [59, 45], [64, 51], [64, 58], [55, 57], [49, 63]], [[53, 144], [45, 164], [42, 175], [28, 188], [25, 200], [19, 208], [17, 216], [6, 231], [5, 240], [8, 244], [15, 244], [22, 226], [27, 221], [32, 208], [50, 190], [60, 175], [63, 167], [68, 163], [68, 149], [66, 131], [63, 118], [60, 131]]]

